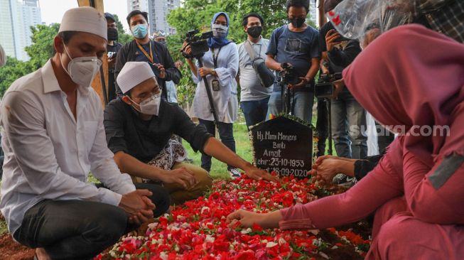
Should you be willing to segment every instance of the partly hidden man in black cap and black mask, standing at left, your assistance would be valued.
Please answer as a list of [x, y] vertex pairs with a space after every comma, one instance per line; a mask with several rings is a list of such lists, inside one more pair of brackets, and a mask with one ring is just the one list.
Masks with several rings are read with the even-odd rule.
[[122, 44], [118, 43], [118, 30], [116, 19], [111, 13], [104, 13], [104, 18], [107, 18], [108, 26], [108, 102], [116, 98], [116, 89], [114, 88], [114, 63], [116, 63], [116, 55], [122, 48]]

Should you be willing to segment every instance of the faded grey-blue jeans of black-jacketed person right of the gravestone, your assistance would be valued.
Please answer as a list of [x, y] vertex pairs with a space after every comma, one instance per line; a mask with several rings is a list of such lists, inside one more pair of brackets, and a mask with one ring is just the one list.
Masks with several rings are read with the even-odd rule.
[[345, 88], [332, 99], [332, 138], [337, 156], [367, 157], [366, 111]]

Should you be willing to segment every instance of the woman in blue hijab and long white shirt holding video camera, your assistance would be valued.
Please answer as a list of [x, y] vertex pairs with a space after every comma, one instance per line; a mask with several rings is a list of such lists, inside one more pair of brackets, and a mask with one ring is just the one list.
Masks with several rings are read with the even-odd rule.
[[[203, 77], [206, 77], [212, 90], [220, 139], [225, 146], [235, 151], [233, 123], [237, 119], [238, 112], [235, 77], [239, 70], [239, 54], [237, 45], [227, 39], [229, 26], [230, 19], [227, 13], [216, 13], [211, 22], [212, 38], [207, 39], [210, 50], [202, 58], [203, 67], [199, 67], [198, 63], [193, 63], [192, 58], [187, 58], [187, 63], [192, 71], [192, 79], [197, 83], [191, 116], [197, 117], [200, 124], [204, 124], [207, 131], [215, 136], [215, 121], [203, 80]], [[185, 53], [192, 53], [192, 48], [187, 43], [184, 43], [183, 49]], [[211, 156], [202, 154], [201, 167], [207, 171], [211, 170]], [[227, 170], [232, 178], [240, 176], [239, 170], [232, 166], [227, 166]]]

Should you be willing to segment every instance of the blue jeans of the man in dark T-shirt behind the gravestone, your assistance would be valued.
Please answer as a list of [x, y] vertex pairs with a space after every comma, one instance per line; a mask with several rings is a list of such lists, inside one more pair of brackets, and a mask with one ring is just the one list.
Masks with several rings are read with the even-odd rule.
[[[299, 119], [311, 122], [313, 117], [313, 104], [314, 104], [314, 93], [313, 92], [294, 92], [291, 99], [291, 107], [293, 108], [291, 114]], [[282, 96], [280, 91], [272, 92], [269, 98], [268, 109], [266, 119], [269, 120], [270, 114], [280, 114], [284, 111], [282, 107]]]

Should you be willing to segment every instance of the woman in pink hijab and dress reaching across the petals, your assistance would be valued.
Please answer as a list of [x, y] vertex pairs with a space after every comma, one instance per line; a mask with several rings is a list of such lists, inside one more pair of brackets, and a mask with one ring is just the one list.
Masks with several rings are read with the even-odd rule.
[[[464, 45], [423, 26], [394, 28], [343, 71], [372, 116], [399, 137], [346, 193], [228, 220], [322, 229], [375, 212], [366, 259], [464, 257]], [[444, 130], [443, 130], [444, 129]]]

